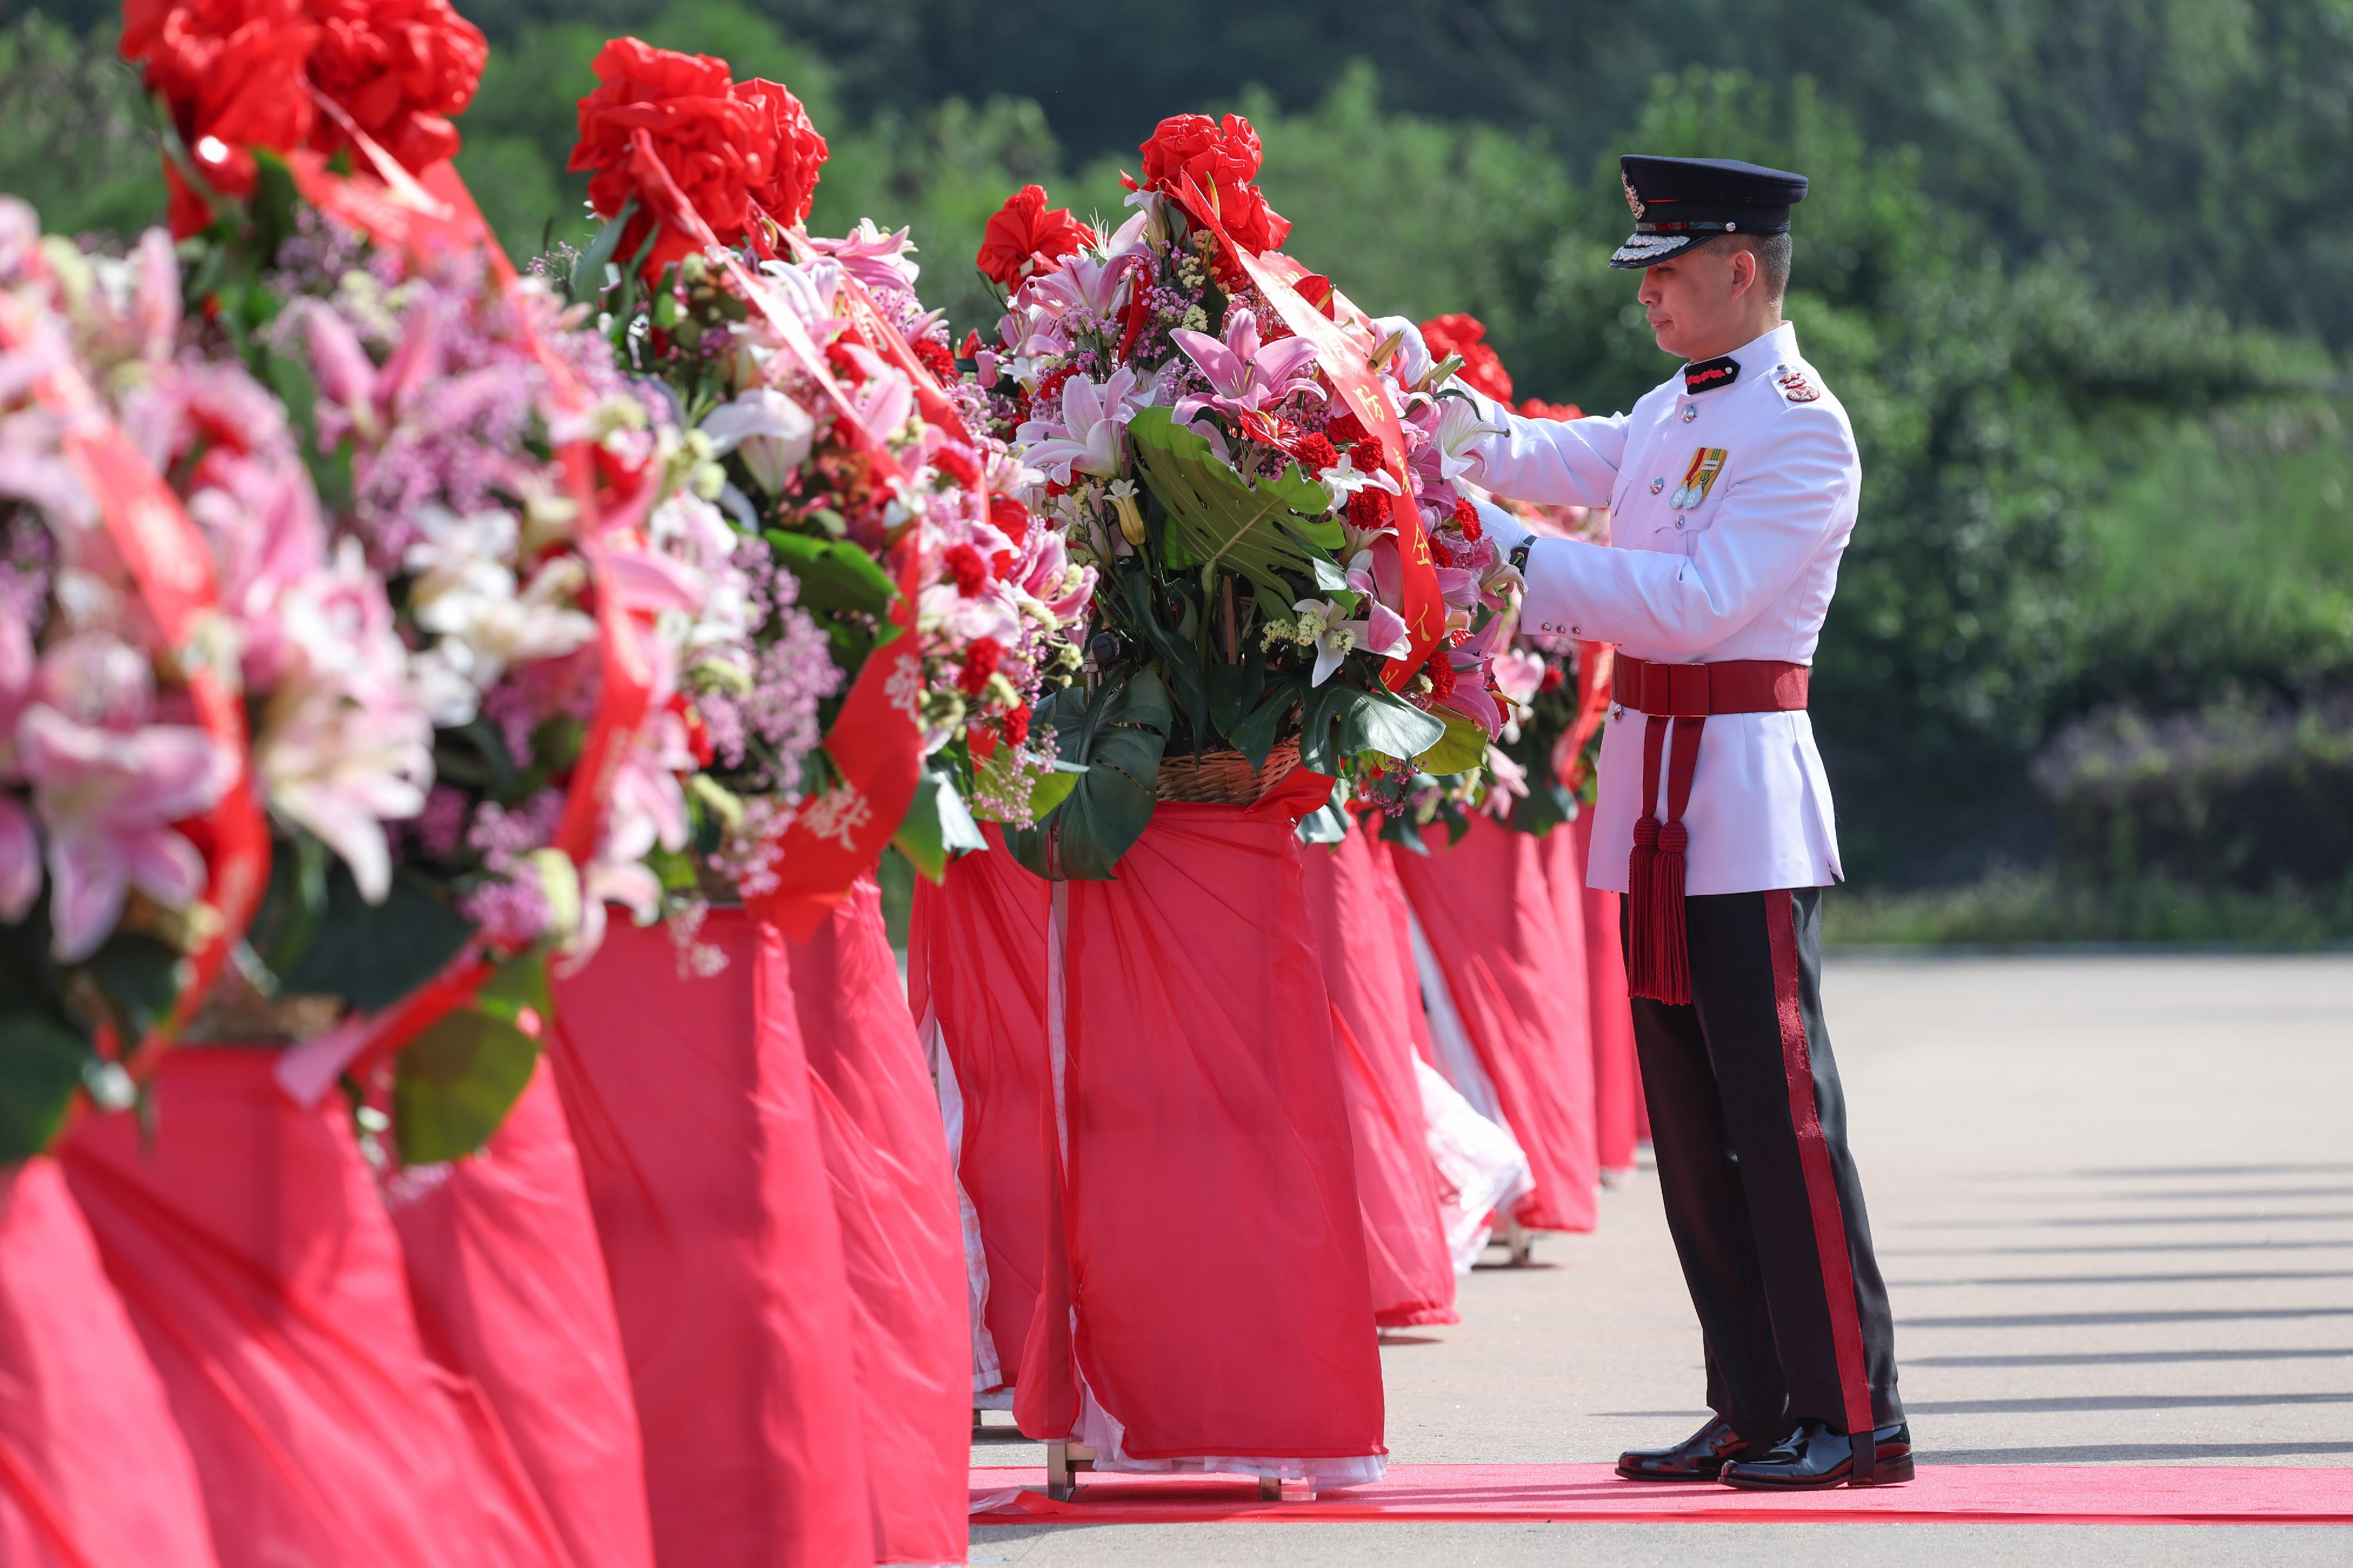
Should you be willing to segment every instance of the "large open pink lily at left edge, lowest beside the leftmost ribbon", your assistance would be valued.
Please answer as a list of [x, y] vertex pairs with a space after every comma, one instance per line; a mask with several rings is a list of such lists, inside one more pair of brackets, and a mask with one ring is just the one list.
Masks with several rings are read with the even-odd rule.
[[238, 759], [188, 724], [113, 733], [40, 703], [16, 722], [33, 809], [49, 830], [49, 924], [59, 964], [113, 933], [132, 886], [167, 907], [205, 891], [205, 858], [172, 823], [238, 780]]

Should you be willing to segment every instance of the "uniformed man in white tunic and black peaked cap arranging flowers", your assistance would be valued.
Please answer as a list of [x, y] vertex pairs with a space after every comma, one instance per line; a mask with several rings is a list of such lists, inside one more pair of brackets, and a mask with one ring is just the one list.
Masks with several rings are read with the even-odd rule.
[[1614, 642], [1591, 882], [1626, 898], [1626, 966], [1668, 1229], [1715, 1418], [1619, 1460], [1631, 1481], [1885, 1486], [1913, 1474], [1887, 1291], [1821, 1018], [1821, 889], [1840, 879], [1807, 665], [1861, 463], [1781, 320], [1805, 176], [1621, 160], [1659, 348], [1631, 414], [1482, 402], [1471, 480], [1607, 505], [1607, 545], [1489, 522], [1532, 630]]

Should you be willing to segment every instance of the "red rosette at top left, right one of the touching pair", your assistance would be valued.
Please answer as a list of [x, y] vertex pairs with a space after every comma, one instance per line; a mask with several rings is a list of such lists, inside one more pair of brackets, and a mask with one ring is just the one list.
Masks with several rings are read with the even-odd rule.
[[[482, 80], [489, 45], [449, 0], [308, 0], [320, 21], [311, 80], [369, 139], [409, 169], [456, 155], [456, 127]], [[315, 146], [341, 150], [334, 115], [320, 115]]]

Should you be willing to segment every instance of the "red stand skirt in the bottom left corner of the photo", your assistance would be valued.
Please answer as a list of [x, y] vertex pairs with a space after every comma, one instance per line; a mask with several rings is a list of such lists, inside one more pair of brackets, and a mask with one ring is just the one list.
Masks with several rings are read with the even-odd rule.
[[0, 1563], [216, 1561], [188, 1441], [64, 1173], [0, 1171]]

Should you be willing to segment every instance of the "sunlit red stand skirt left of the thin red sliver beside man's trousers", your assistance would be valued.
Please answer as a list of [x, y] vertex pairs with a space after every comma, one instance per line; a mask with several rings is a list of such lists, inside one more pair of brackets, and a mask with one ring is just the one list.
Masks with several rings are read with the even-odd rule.
[[1560, 936], [1544, 842], [1475, 816], [1452, 849], [1391, 863], [1537, 1178], [1513, 1218], [1529, 1229], [1593, 1229], [1586, 971]]

